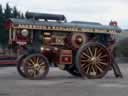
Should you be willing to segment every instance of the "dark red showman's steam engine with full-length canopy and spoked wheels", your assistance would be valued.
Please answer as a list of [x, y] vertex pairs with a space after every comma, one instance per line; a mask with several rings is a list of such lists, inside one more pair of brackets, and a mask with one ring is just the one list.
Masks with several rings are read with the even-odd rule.
[[116, 72], [115, 34], [121, 32], [116, 22], [67, 22], [64, 15], [28, 12], [26, 19], [11, 18], [6, 25], [9, 48], [25, 78], [44, 78], [51, 65], [91, 79], [104, 77], [112, 68]]

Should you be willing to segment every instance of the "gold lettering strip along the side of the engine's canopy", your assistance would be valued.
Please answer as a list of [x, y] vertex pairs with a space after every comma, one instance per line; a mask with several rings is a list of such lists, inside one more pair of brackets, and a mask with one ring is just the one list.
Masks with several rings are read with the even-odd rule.
[[62, 27], [62, 26], [45, 26], [45, 25], [25, 25], [18, 24], [14, 26], [15, 28], [25, 28], [25, 29], [40, 29], [40, 30], [57, 30], [57, 31], [72, 31], [72, 32], [94, 32], [94, 33], [114, 33], [115, 30], [105, 30], [105, 29], [94, 29], [94, 28], [76, 28], [76, 27]]

